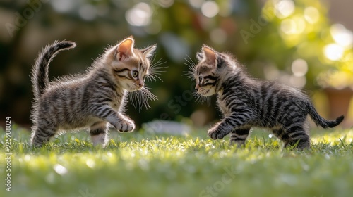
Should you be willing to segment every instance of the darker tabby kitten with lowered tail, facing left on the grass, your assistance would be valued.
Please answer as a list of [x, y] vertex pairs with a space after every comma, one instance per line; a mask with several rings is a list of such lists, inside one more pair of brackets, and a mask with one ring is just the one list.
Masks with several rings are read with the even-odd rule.
[[254, 80], [243, 65], [228, 53], [203, 46], [197, 54], [198, 64], [191, 65], [198, 96], [217, 94], [217, 105], [223, 119], [208, 130], [212, 139], [231, 133], [231, 143], [245, 143], [251, 127], [266, 127], [284, 142], [284, 146], [309, 148], [306, 117], [316, 125], [335, 127], [343, 120], [325, 120], [318, 115], [308, 96], [298, 89], [277, 82]]

